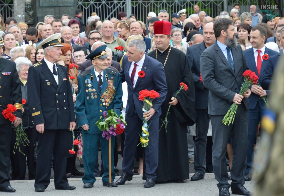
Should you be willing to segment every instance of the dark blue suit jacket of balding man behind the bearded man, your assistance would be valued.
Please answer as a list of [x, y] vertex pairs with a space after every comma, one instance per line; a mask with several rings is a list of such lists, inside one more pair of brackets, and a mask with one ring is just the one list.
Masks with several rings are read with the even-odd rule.
[[200, 44], [187, 47], [186, 57], [191, 66], [191, 74], [195, 86], [195, 105], [194, 109], [207, 109], [208, 108], [208, 94], [209, 91], [199, 80], [200, 78], [200, 57], [205, 50], [204, 41]]

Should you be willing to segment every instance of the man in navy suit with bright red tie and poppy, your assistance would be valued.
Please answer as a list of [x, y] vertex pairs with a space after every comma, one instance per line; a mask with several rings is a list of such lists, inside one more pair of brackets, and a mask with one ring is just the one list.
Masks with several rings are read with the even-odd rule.
[[[264, 45], [267, 31], [263, 26], [255, 26], [250, 32], [250, 43], [252, 48], [244, 51], [245, 58], [249, 65], [249, 69], [255, 72], [261, 84], [263, 79], [263, 72], [266, 69], [267, 61], [263, 58], [263, 55], [268, 56], [276, 55], [277, 52], [266, 48]], [[268, 57], [269, 59], [269, 57]], [[266, 105], [261, 97], [268, 94], [267, 90], [263, 90], [258, 85], [252, 85], [251, 96], [249, 96], [249, 126], [248, 126], [248, 148], [247, 148], [247, 169], [245, 171], [245, 181], [252, 180], [252, 159], [253, 159], [253, 144], [256, 139], [256, 130], [258, 123], [263, 115]]]

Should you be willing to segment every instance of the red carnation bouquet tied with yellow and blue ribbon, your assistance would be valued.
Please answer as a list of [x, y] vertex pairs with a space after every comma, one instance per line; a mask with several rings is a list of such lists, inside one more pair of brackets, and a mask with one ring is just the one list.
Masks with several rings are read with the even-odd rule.
[[[157, 91], [154, 90], [142, 90], [139, 92], [139, 100], [143, 101], [143, 107], [142, 110], [143, 112], [147, 112], [149, 111], [149, 109], [153, 106], [152, 102], [154, 99], [160, 97], [159, 93]], [[148, 122], [145, 119], [147, 117], [143, 117], [143, 126], [142, 126], [142, 133], [141, 133], [141, 137], [140, 137], [140, 141], [141, 141], [141, 146], [142, 147], [147, 147], [148, 145], [148, 136], [149, 136], [149, 132], [148, 132]]]

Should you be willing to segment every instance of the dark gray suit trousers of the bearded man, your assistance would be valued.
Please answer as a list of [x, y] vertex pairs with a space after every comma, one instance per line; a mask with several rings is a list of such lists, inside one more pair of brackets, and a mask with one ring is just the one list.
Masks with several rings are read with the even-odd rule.
[[225, 115], [210, 115], [212, 124], [212, 161], [213, 170], [218, 188], [230, 187], [226, 166], [227, 143], [231, 136], [233, 147], [233, 163], [231, 168], [231, 187], [245, 184], [244, 175], [247, 168], [247, 134], [248, 111], [241, 102], [233, 124], [224, 125], [222, 120]]

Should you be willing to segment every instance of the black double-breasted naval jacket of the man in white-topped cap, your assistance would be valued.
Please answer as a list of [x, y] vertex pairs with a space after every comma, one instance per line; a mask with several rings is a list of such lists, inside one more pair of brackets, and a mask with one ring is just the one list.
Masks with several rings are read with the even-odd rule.
[[58, 85], [44, 59], [28, 72], [28, 107], [34, 124], [44, 123], [44, 129], [69, 129], [75, 121], [72, 90], [67, 68], [58, 67]]

